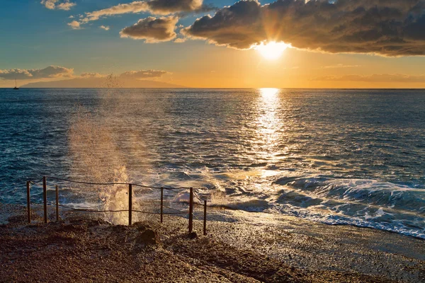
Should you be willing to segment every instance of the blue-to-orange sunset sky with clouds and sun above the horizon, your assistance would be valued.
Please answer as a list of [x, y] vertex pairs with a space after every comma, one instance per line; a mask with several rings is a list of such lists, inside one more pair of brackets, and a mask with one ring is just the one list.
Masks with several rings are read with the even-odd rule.
[[425, 88], [423, 0], [16, 0], [0, 24], [0, 87]]

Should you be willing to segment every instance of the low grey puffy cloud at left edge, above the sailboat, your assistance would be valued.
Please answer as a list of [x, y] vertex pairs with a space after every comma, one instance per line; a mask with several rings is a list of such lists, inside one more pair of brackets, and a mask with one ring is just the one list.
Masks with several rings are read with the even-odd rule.
[[25, 79], [52, 79], [70, 78], [74, 74], [74, 69], [67, 69], [59, 66], [49, 66], [45, 69], [9, 69], [0, 70], [0, 79], [5, 80], [25, 80]]

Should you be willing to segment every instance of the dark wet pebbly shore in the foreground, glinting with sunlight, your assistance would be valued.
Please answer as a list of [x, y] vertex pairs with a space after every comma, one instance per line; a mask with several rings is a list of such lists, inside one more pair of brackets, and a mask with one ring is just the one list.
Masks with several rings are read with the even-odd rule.
[[425, 241], [397, 233], [223, 210], [190, 238], [177, 216], [62, 216], [28, 225], [24, 207], [0, 204], [0, 282], [425, 282]]

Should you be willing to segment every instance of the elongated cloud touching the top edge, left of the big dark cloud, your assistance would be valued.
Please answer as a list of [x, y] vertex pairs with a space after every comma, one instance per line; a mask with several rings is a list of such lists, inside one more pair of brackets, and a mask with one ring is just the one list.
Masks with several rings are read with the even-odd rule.
[[149, 12], [155, 15], [167, 15], [170, 13], [196, 11], [203, 5], [203, 0], [152, 0], [133, 1], [128, 4], [118, 4], [110, 8], [86, 13], [81, 23], [97, 21], [101, 17], [115, 16], [124, 13]]

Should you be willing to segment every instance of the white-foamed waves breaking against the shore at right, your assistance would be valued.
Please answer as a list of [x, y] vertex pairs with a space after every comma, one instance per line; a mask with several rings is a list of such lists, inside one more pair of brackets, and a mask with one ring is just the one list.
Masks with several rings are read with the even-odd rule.
[[425, 190], [381, 180], [285, 176], [266, 193], [240, 192], [212, 205], [298, 216], [330, 225], [353, 225], [425, 239]]

